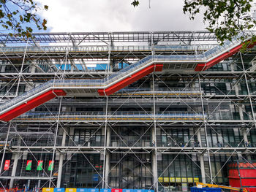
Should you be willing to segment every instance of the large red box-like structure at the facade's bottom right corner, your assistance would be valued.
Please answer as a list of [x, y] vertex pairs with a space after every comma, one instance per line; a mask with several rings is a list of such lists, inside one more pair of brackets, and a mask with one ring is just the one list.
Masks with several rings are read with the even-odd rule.
[[241, 162], [228, 165], [230, 185], [246, 188], [249, 192], [256, 192], [256, 163]]

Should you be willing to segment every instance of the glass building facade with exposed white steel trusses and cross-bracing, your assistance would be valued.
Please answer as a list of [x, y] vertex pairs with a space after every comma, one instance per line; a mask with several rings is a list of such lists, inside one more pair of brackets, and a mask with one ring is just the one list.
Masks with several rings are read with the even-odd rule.
[[228, 164], [256, 158], [253, 48], [208, 31], [0, 40], [0, 188], [189, 191], [229, 185]]

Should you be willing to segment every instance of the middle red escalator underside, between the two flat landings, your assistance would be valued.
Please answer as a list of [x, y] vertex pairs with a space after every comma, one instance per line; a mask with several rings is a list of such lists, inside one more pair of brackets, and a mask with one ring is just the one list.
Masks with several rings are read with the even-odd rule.
[[163, 64], [152, 64], [151, 66], [147, 66], [145, 69], [140, 70], [140, 72], [132, 74], [131, 76], [117, 82], [115, 85], [112, 85], [109, 88], [99, 89], [98, 93], [100, 96], [110, 96], [112, 93], [115, 93], [121, 88], [125, 88], [127, 85], [132, 84], [132, 82], [140, 80], [142, 77], [145, 77], [151, 72], [162, 72], [162, 67]]

